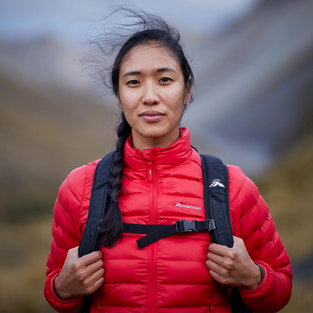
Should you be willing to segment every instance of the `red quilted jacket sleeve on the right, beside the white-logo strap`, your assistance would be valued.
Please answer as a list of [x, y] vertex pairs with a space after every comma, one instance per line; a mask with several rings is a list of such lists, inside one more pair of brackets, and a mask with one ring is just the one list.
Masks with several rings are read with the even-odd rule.
[[244, 240], [251, 259], [264, 269], [257, 288], [239, 287], [241, 297], [253, 312], [277, 312], [291, 296], [289, 256], [258, 188], [239, 167], [228, 166], [228, 172], [233, 234]]

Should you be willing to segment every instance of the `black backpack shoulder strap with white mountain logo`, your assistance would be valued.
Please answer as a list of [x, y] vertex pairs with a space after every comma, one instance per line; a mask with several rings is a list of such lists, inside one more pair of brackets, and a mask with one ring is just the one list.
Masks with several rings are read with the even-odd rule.
[[210, 232], [213, 243], [233, 247], [229, 215], [228, 168], [215, 156], [201, 154], [206, 219], [213, 219], [216, 229]]

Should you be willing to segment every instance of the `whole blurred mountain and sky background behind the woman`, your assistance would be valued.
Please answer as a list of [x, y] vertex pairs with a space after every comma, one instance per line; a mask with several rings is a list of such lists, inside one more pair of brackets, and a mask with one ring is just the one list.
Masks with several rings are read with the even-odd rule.
[[[282, 312], [312, 312], [313, 1], [133, 3], [181, 31], [198, 92], [182, 125], [257, 184], [292, 260]], [[58, 187], [114, 149], [119, 115], [77, 59], [92, 20], [125, 4], [0, 1], [2, 312], [53, 312], [43, 288]]]

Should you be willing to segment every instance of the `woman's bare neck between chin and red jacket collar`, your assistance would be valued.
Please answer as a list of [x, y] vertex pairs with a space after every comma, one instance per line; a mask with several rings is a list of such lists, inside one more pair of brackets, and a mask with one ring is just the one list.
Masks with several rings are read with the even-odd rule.
[[144, 149], [151, 148], [167, 148], [179, 138], [179, 128], [173, 129], [170, 133], [156, 138], [148, 138], [141, 136], [134, 129], [132, 130], [133, 148]]

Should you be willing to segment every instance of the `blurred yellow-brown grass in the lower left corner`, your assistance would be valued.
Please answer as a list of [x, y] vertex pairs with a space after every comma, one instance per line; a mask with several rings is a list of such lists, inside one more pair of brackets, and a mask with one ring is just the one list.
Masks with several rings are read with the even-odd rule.
[[44, 298], [52, 216], [1, 224], [0, 311], [55, 312]]

